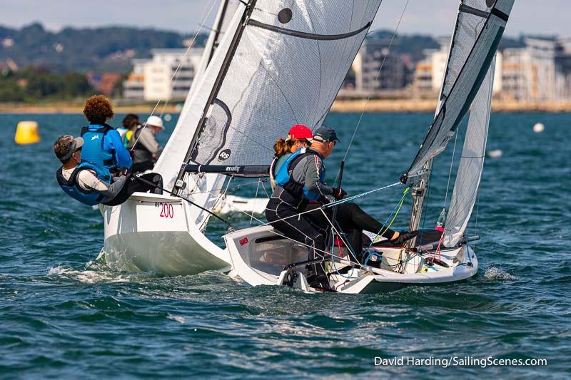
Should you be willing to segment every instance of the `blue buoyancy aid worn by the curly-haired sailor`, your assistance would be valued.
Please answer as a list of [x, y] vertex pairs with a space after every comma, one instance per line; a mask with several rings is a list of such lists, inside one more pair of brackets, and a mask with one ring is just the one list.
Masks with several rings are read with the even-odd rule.
[[107, 152], [103, 149], [103, 140], [111, 125], [90, 124], [81, 128], [81, 137], [84, 138], [85, 144], [81, 148], [81, 160], [89, 161], [98, 166], [103, 166], [107, 170], [113, 170], [117, 167], [114, 152]]

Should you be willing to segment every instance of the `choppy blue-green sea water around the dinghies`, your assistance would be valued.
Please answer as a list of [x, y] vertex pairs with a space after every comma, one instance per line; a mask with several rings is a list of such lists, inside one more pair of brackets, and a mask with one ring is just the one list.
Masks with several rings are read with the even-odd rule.
[[[16, 145], [16, 124], [30, 118], [41, 143]], [[326, 161], [330, 182], [358, 118], [326, 120], [341, 140]], [[397, 182], [431, 119], [366, 114], [343, 188], [355, 195]], [[543, 133], [532, 130], [538, 122]], [[159, 140], [175, 123], [166, 123]], [[0, 115], [0, 376], [571, 376], [571, 115], [492, 115], [488, 150], [502, 155], [485, 160], [468, 227], [482, 237], [473, 245], [475, 277], [374, 295], [250, 287], [216, 272], [111, 269], [96, 260], [101, 215], [64, 195], [55, 179], [52, 143], [84, 124], [81, 115]], [[428, 229], [450, 200], [453, 144], [435, 162], [422, 223]], [[236, 193], [253, 195], [251, 182]], [[357, 202], [384, 221], [402, 190]], [[394, 227], [406, 228], [409, 212], [407, 200]], [[228, 218], [237, 227], [251, 223]], [[224, 232], [214, 219], [207, 230], [220, 245]], [[536, 365], [506, 364], [532, 359]]]

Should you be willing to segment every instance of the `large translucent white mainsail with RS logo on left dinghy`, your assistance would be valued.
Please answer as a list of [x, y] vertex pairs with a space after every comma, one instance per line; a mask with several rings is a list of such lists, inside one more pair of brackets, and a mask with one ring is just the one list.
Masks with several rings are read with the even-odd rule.
[[191, 160], [269, 163], [273, 143], [291, 125], [319, 126], [379, 5], [380, 0], [252, 1]]

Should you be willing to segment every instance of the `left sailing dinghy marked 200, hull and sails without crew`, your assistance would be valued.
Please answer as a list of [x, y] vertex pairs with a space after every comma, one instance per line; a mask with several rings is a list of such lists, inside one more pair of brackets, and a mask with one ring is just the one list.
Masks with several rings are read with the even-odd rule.
[[[164, 187], [211, 211], [221, 173], [267, 175], [279, 136], [323, 123], [380, 1], [238, 3], [155, 167]], [[203, 235], [203, 209], [148, 194], [103, 207], [107, 261], [166, 274], [228, 269], [228, 251]]]

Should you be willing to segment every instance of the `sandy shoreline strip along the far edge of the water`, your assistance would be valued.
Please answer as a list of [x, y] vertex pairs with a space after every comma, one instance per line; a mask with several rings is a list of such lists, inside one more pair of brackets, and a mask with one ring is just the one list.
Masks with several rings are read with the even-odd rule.
[[[357, 100], [336, 100], [331, 107], [331, 112], [338, 113], [360, 113], [365, 108], [368, 113], [431, 113], [436, 108], [436, 101], [416, 100], [416, 99], [365, 99]], [[0, 103], [0, 113], [81, 113], [83, 103], [46, 103], [46, 104], [24, 104], [24, 103]], [[136, 104], [132, 106], [115, 106], [116, 113], [151, 113], [154, 105]], [[180, 108], [167, 105], [163, 108], [159, 105], [156, 113], [179, 113]], [[519, 101], [493, 101], [492, 112], [505, 113], [526, 113], [526, 112], [546, 112], [546, 113], [571, 113], [571, 101], [542, 101], [542, 102], [519, 102]]]

